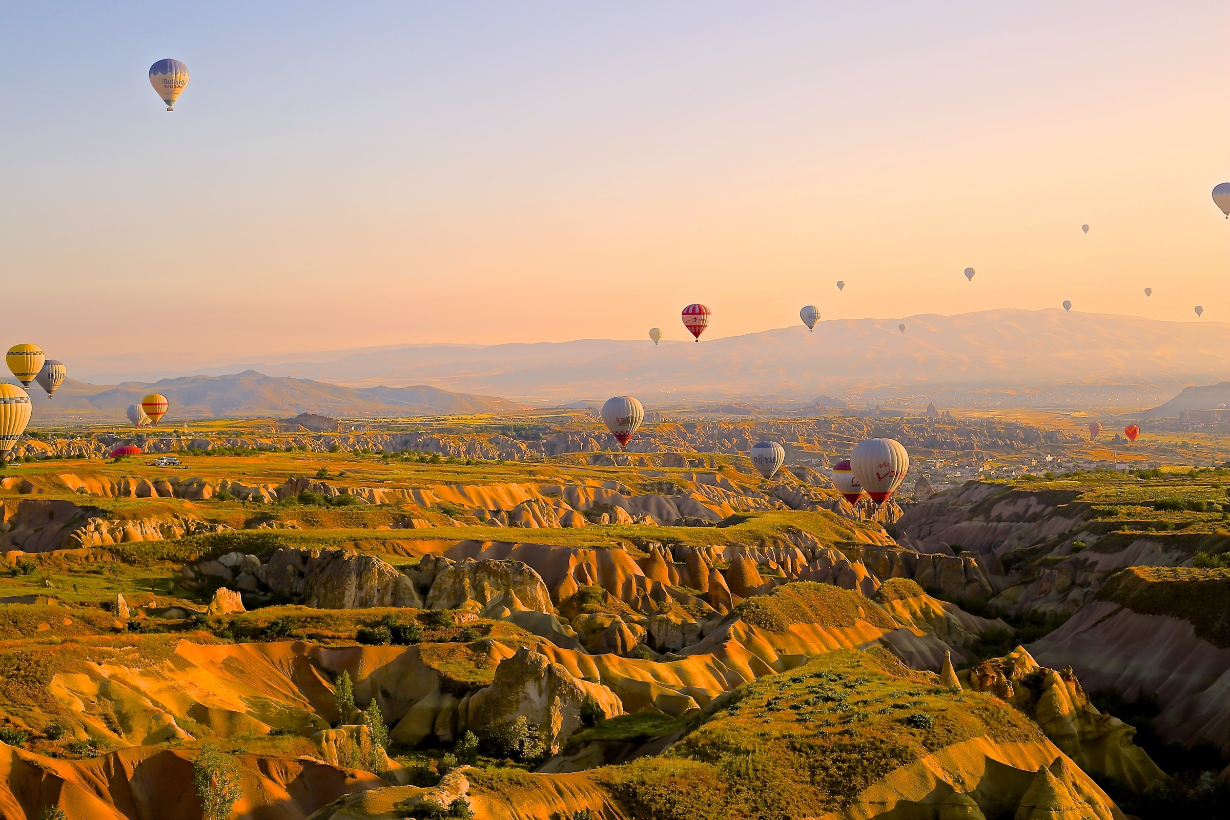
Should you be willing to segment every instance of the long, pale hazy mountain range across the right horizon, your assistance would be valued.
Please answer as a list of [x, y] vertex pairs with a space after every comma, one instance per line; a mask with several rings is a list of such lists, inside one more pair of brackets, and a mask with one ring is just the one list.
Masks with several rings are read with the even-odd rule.
[[932, 396], [956, 402], [989, 392], [988, 403], [1122, 406], [1230, 377], [1230, 325], [1005, 309], [822, 321], [814, 332], [800, 325], [699, 344], [418, 344], [257, 366], [352, 387], [423, 384], [535, 404], [617, 393], [659, 404], [811, 401], [820, 393], [918, 397], [925, 404]]

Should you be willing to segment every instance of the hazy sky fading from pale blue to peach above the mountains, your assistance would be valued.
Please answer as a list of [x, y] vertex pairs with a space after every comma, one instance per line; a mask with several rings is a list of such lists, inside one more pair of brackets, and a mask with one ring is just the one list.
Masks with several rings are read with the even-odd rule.
[[6, 345], [1230, 320], [1224, 0], [107, 6], [0, 6]]

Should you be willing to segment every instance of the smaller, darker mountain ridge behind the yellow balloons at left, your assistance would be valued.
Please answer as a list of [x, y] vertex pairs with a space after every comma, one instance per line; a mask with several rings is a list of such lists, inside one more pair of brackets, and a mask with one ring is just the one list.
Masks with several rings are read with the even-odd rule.
[[278, 418], [299, 413], [391, 418], [522, 409], [520, 404], [506, 398], [454, 393], [438, 387], [354, 388], [245, 370], [235, 375], [183, 376], [153, 384], [90, 385], [65, 380], [53, 400], [32, 385], [32, 423], [123, 420], [128, 406], [140, 403], [148, 393], [162, 393], [170, 401], [166, 422], [177, 418]]

